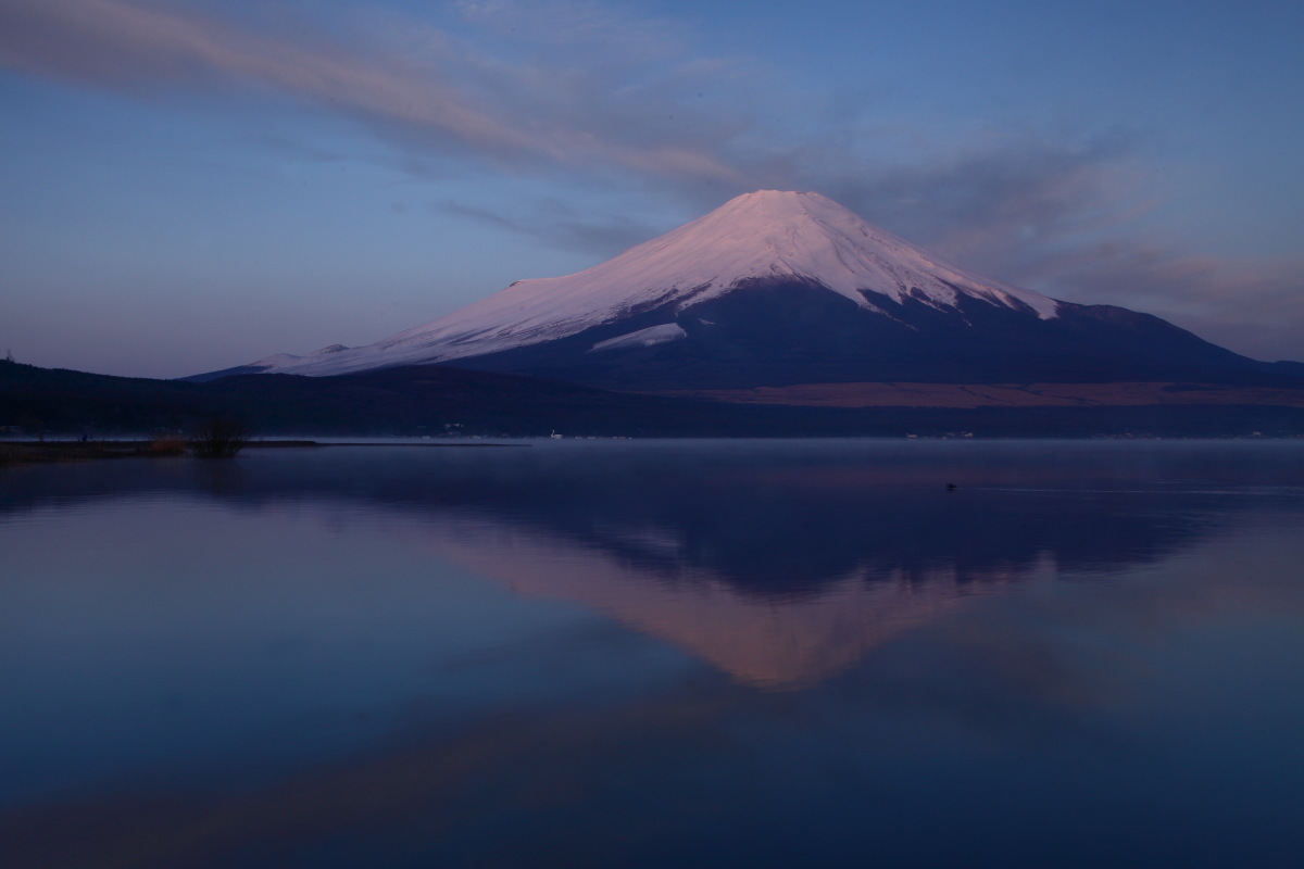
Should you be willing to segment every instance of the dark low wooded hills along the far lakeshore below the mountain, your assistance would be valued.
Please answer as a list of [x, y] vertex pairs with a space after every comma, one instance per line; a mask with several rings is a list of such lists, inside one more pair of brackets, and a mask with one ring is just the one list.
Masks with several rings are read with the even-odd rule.
[[254, 436], [1304, 435], [1304, 409], [1271, 405], [797, 408], [606, 392], [442, 366], [189, 383], [0, 361], [0, 427], [9, 435], [188, 433], [219, 417], [239, 420]]

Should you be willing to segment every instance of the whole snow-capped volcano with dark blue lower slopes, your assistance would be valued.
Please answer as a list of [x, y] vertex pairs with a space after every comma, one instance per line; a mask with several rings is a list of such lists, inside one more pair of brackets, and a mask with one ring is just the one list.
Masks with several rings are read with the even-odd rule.
[[801, 384], [1249, 383], [1304, 373], [1149, 314], [982, 278], [816, 193], [760, 190], [585, 271], [522, 280], [366, 347], [198, 375], [408, 365], [631, 391]]

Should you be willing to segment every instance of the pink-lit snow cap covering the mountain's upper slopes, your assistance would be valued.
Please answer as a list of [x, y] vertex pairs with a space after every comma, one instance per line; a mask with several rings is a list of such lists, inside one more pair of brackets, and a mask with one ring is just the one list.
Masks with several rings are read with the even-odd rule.
[[1058, 302], [1041, 293], [949, 264], [819, 193], [755, 190], [592, 268], [519, 280], [378, 344], [275, 367], [342, 374], [499, 353], [656, 307], [683, 311], [776, 281], [823, 287], [875, 313], [884, 313], [879, 307], [884, 298], [940, 310], [956, 310], [964, 298], [978, 300], [1041, 319], [1055, 318], [1058, 310]]

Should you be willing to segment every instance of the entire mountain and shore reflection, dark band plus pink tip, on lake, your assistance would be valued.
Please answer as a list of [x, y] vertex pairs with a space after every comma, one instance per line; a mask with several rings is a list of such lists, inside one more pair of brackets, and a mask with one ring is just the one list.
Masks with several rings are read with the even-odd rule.
[[[166, 491], [343, 504], [346, 519], [378, 519], [520, 594], [602, 612], [741, 681], [794, 687], [977, 594], [1154, 562], [1235, 521], [1256, 500], [1219, 491], [1218, 455], [836, 442], [267, 451], [31, 469], [0, 508]], [[1299, 485], [1290, 459], [1267, 451], [1247, 466], [1240, 452], [1234, 472]]]

